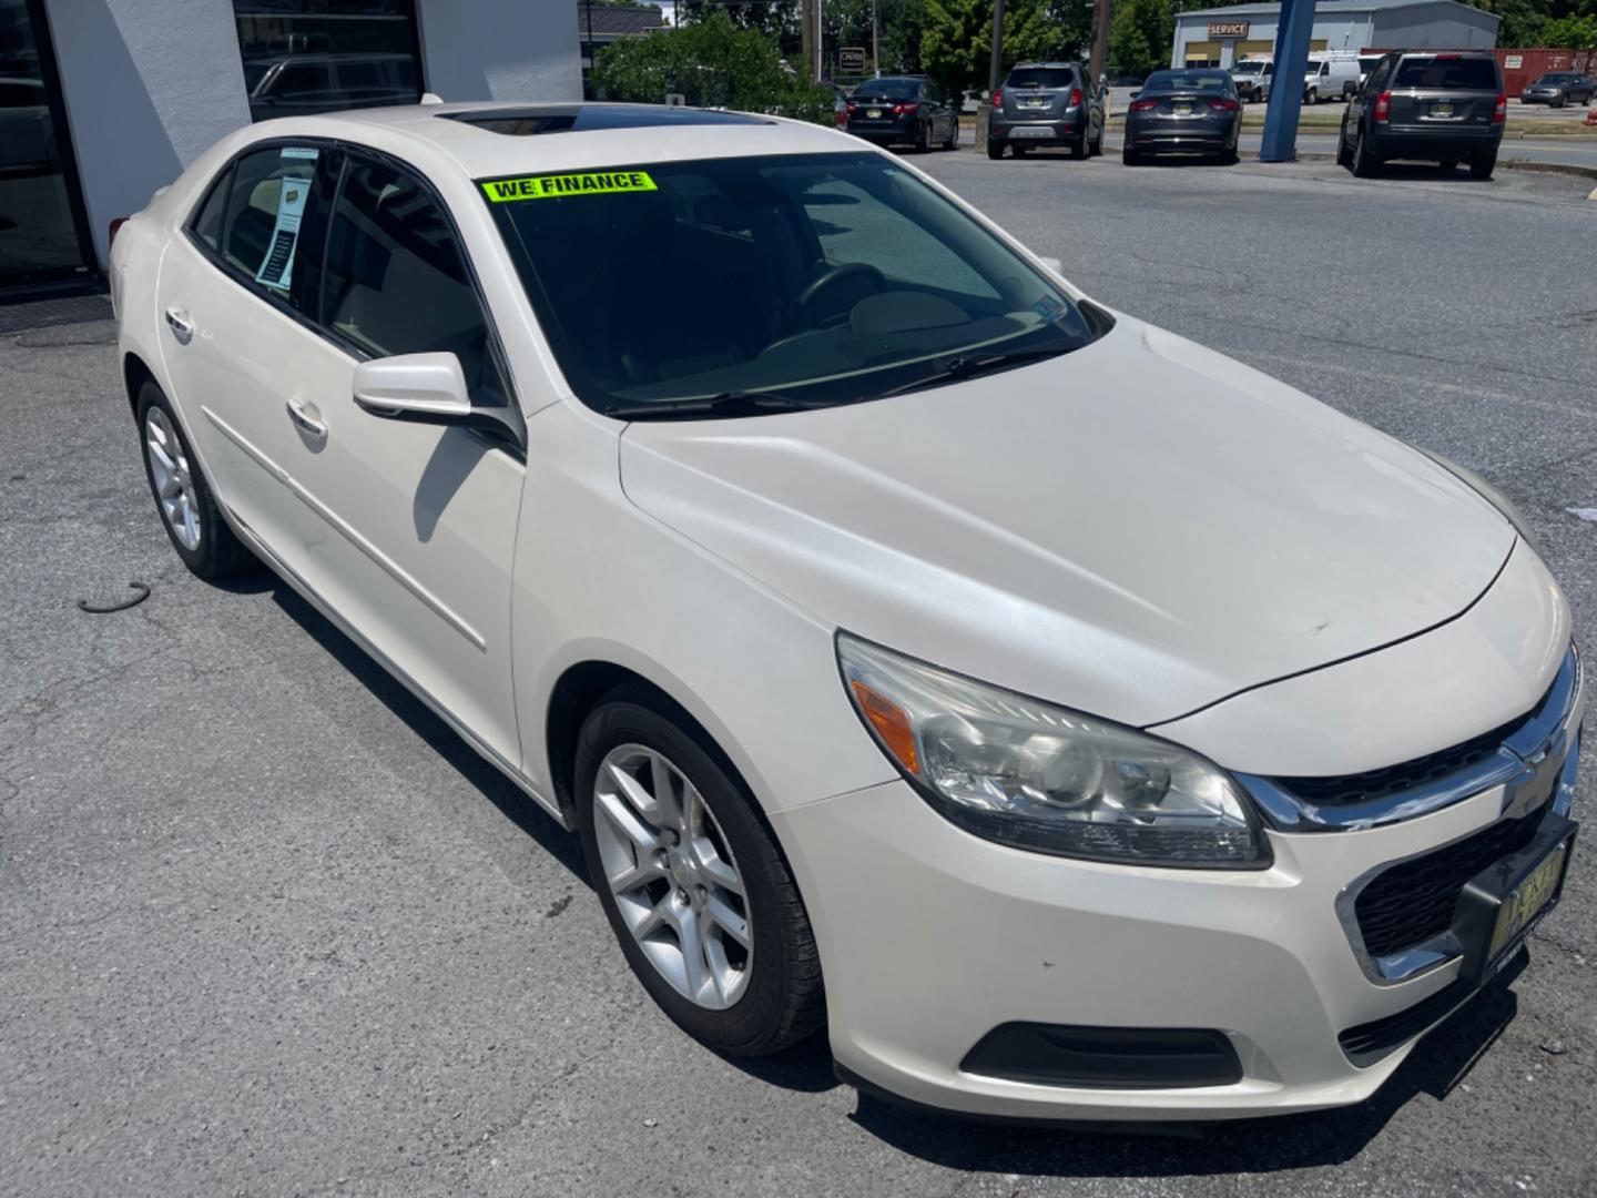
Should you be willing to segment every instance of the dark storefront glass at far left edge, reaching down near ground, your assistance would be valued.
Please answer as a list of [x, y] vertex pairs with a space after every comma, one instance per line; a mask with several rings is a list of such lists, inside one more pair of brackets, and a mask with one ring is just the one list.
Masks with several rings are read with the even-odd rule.
[[43, 13], [0, 0], [0, 286], [86, 270]]

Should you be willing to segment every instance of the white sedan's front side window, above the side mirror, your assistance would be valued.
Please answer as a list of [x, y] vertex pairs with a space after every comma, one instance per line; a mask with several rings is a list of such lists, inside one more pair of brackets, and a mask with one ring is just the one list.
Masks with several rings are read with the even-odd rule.
[[474, 398], [505, 403], [454, 227], [406, 171], [350, 157], [327, 233], [321, 321], [374, 358], [454, 353]]

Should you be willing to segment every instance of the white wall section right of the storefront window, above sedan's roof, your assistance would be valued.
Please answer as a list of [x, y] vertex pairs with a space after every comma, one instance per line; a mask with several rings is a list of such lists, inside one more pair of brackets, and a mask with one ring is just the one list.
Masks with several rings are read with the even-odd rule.
[[446, 101], [580, 101], [570, 0], [417, 0], [426, 86]]

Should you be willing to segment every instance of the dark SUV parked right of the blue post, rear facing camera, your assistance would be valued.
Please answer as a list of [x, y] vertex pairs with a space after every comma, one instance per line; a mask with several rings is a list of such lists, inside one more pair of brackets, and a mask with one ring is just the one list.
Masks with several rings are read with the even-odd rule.
[[1472, 179], [1496, 168], [1508, 96], [1490, 50], [1402, 50], [1364, 78], [1341, 118], [1337, 161], [1361, 179], [1388, 158], [1456, 166]]

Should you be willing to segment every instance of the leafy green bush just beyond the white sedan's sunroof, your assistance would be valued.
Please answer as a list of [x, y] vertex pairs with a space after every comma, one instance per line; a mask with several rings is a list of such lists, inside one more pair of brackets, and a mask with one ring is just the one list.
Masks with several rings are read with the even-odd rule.
[[773, 38], [741, 29], [719, 11], [696, 24], [605, 46], [592, 80], [604, 99], [660, 104], [668, 93], [680, 93], [693, 105], [832, 123], [829, 88], [784, 67]]

